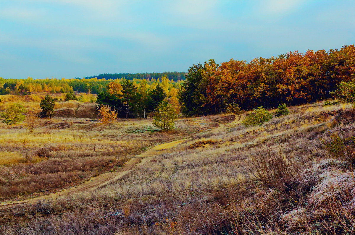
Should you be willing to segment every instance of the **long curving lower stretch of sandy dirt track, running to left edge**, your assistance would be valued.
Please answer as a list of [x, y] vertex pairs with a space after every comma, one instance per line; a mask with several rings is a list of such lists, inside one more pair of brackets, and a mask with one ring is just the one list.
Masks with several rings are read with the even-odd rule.
[[4, 209], [6, 207], [14, 206], [17, 204], [34, 203], [38, 200], [56, 198], [58, 196], [82, 192], [82, 191], [85, 191], [88, 189], [94, 189], [99, 186], [109, 184], [113, 180], [119, 179], [123, 175], [127, 174], [137, 164], [144, 164], [145, 162], [147, 162], [147, 160], [149, 158], [151, 158], [159, 153], [162, 153], [166, 149], [173, 148], [174, 146], [178, 145], [181, 142], [184, 142], [185, 140], [189, 140], [189, 139], [176, 140], [176, 141], [171, 141], [169, 143], [164, 143], [164, 144], [159, 144], [157, 146], [154, 146], [153, 148], [148, 149], [144, 153], [141, 153], [141, 154], [137, 155], [136, 157], [131, 158], [119, 170], [98, 175], [96, 177], [93, 177], [91, 180], [84, 182], [83, 184], [80, 184], [80, 185], [77, 185], [77, 186], [74, 186], [71, 188], [66, 188], [66, 189], [61, 190], [57, 193], [50, 193], [48, 195], [44, 195], [44, 196], [40, 196], [40, 197], [29, 198], [29, 199], [25, 199], [25, 200], [21, 200], [21, 201], [2, 202], [2, 203], [0, 203], [0, 208]]

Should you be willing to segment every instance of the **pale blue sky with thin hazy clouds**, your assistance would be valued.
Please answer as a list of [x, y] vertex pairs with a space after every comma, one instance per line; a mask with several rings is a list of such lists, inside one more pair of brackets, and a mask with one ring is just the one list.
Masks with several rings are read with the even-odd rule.
[[0, 77], [187, 71], [355, 43], [355, 0], [0, 0]]

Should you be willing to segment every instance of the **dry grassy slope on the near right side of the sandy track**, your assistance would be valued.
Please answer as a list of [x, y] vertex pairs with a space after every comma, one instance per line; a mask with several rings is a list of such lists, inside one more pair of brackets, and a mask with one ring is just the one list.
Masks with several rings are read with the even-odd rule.
[[354, 121], [350, 106], [316, 103], [205, 132], [93, 192], [3, 211], [2, 232], [354, 233], [353, 169], [321, 143], [340, 128], [354, 136]]

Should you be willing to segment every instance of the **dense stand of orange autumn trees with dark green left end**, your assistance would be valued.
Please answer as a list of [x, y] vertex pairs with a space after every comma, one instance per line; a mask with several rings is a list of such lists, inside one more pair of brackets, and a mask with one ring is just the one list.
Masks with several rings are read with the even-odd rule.
[[299, 105], [331, 98], [340, 82], [355, 78], [355, 48], [289, 52], [250, 62], [214, 60], [189, 68], [179, 91], [187, 116]]

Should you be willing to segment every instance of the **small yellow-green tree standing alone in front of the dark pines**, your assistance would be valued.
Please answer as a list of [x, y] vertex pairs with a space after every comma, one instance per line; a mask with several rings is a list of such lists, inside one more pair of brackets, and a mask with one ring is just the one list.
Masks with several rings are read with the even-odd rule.
[[153, 116], [153, 125], [165, 131], [174, 129], [174, 120], [178, 118], [174, 105], [160, 102]]

